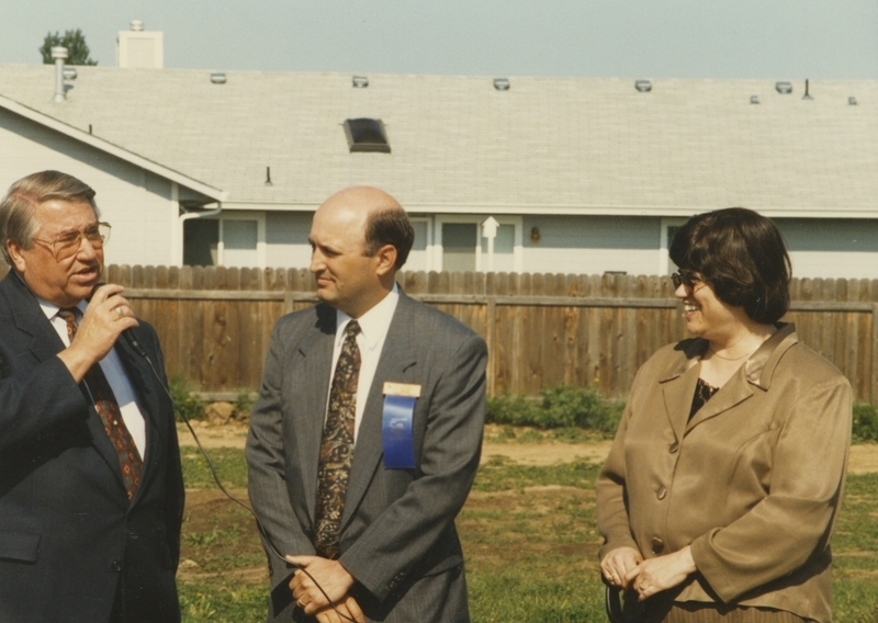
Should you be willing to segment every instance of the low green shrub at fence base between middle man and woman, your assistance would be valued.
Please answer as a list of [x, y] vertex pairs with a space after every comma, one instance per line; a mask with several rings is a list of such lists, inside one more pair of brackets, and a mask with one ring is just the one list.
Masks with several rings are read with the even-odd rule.
[[623, 403], [608, 403], [592, 387], [556, 385], [540, 395], [539, 403], [521, 395], [489, 398], [487, 421], [540, 429], [578, 428], [609, 435], [616, 431], [624, 407]]

